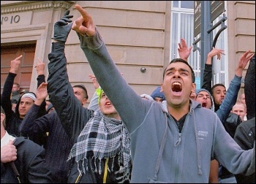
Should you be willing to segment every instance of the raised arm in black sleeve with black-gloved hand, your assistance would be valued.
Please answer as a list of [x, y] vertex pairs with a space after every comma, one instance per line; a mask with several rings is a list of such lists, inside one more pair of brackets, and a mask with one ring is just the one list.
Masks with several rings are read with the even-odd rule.
[[76, 138], [93, 115], [93, 111], [84, 108], [75, 97], [67, 75], [64, 47], [71, 31], [72, 20], [70, 18], [72, 17], [67, 11], [64, 17], [54, 24], [53, 43], [51, 53], [48, 55], [50, 61], [48, 64], [48, 94], [67, 135], [72, 142], [76, 142]]

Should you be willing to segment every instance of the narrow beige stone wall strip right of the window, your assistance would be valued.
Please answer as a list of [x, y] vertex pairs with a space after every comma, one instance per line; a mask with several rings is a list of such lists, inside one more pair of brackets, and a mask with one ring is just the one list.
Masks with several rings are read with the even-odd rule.
[[[230, 81], [241, 55], [247, 50], [255, 53], [255, 1], [227, 1], [227, 37]], [[241, 86], [244, 87], [244, 83]]]

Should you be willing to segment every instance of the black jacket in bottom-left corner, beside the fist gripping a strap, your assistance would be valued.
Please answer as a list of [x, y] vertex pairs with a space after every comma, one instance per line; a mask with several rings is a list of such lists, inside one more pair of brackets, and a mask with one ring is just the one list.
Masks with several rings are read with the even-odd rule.
[[[17, 149], [17, 159], [14, 163], [21, 183], [53, 183], [42, 146], [24, 137], [17, 137], [14, 145]], [[10, 163], [1, 163], [1, 183], [18, 183]]]

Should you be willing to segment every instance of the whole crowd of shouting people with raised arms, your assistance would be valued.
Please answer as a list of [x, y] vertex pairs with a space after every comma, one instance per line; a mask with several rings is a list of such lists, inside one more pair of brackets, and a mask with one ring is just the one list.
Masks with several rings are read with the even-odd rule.
[[[54, 24], [48, 78], [38, 60], [36, 93], [20, 93], [14, 83], [22, 55], [10, 62], [1, 94], [1, 183], [255, 183], [254, 53], [241, 55], [226, 89], [211, 86], [212, 58], [225, 54], [213, 47], [196, 89], [192, 47], [181, 39], [162, 84], [139, 95], [91, 15], [75, 8], [79, 18], [67, 10]], [[94, 72], [88, 107], [86, 86], [72, 86], [67, 74], [72, 30]]]

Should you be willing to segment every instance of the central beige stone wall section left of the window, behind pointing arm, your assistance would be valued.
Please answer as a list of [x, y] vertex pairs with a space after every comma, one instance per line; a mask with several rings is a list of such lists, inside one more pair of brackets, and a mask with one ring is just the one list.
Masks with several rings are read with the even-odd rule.
[[[162, 82], [165, 49], [170, 39], [165, 39], [166, 1], [78, 1], [94, 18], [108, 51], [127, 82], [139, 94], [151, 93]], [[79, 12], [73, 9], [74, 17]], [[170, 28], [168, 29], [170, 31]], [[167, 41], [167, 44], [166, 44]], [[70, 45], [69, 45], [70, 44]], [[165, 44], [167, 48], [165, 48]], [[81, 76], [70, 79], [74, 83], [91, 82], [91, 72], [75, 32], [67, 40], [69, 68], [81, 69]], [[79, 55], [79, 56], [78, 56]], [[79, 58], [78, 58], [79, 57]], [[77, 66], [77, 61], [82, 61]], [[167, 61], [169, 59], [167, 58]], [[86, 66], [86, 70], [84, 65]], [[146, 72], [140, 72], [145, 67]], [[69, 70], [70, 71], [70, 70]], [[88, 86], [88, 85], [87, 85]]]

